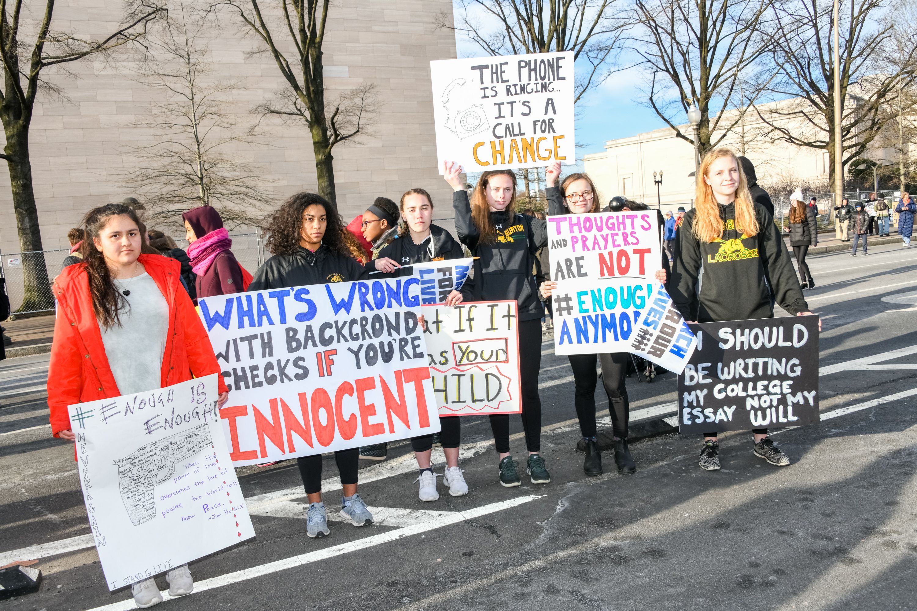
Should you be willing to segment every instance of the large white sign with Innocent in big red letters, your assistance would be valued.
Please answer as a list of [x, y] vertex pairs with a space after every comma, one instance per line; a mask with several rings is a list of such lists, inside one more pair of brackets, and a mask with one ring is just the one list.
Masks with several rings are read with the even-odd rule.
[[418, 278], [260, 290], [199, 303], [232, 389], [220, 415], [234, 465], [439, 431], [414, 313]]

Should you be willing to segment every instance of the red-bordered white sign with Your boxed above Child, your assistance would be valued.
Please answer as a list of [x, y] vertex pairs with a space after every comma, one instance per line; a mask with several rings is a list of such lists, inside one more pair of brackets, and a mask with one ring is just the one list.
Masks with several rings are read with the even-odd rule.
[[520, 413], [516, 302], [430, 305], [423, 314], [439, 415]]

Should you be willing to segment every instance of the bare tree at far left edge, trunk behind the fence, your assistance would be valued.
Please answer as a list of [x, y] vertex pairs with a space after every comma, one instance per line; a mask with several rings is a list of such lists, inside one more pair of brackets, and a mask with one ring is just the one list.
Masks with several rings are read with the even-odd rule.
[[[160, 16], [163, 9], [147, 0], [132, 0], [127, 4], [120, 27], [104, 38], [93, 38], [55, 31], [54, 0], [34, 3], [39, 6], [24, 4], [23, 0], [0, 2], [0, 60], [4, 71], [0, 121], [6, 134], [6, 146], [0, 158], [6, 160], [9, 169], [19, 247], [23, 252], [34, 253], [41, 251], [42, 245], [39, 212], [32, 188], [28, 135], [35, 102], [45, 84], [42, 72], [89, 55], [105, 55], [141, 38], [149, 23]], [[21, 309], [33, 311], [52, 307], [44, 256], [24, 256], [23, 275], [25, 300]]]

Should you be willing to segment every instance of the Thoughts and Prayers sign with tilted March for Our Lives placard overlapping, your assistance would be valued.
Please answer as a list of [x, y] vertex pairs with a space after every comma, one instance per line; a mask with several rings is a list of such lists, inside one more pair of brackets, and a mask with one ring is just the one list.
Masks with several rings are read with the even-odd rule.
[[655, 211], [547, 218], [556, 354], [631, 352], [681, 371], [696, 339], [655, 278], [657, 225]]

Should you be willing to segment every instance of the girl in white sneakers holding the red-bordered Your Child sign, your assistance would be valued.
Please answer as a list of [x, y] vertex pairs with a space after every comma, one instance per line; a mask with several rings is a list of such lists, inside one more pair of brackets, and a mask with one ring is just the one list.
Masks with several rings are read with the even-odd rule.
[[[367, 270], [385, 272], [386, 276], [411, 276], [413, 263], [459, 259], [465, 256], [461, 245], [442, 227], [433, 224], [433, 198], [423, 189], [412, 189], [402, 195], [401, 214], [404, 221], [398, 237], [391, 244], [379, 251], [378, 259], [366, 264]], [[466, 280], [468, 282], [468, 280]], [[446, 298], [446, 305], [453, 306], [462, 301], [462, 294], [453, 290]], [[443, 483], [448, 486], [451, 496], [468, 494], [465, 476], [458, 468], [458, 442], [460, 440], [461, 418], [458, 416], [440, 416], [439, 442], [446, 455], [446, 471]], [[436, 491], [436, 475], [433, 473], [431, 456], [433, 453], [433, 435], [421, 435], [411, 440], [420, 475], [419, 496], [422, 501], [435, 501], [439, 498]]]

